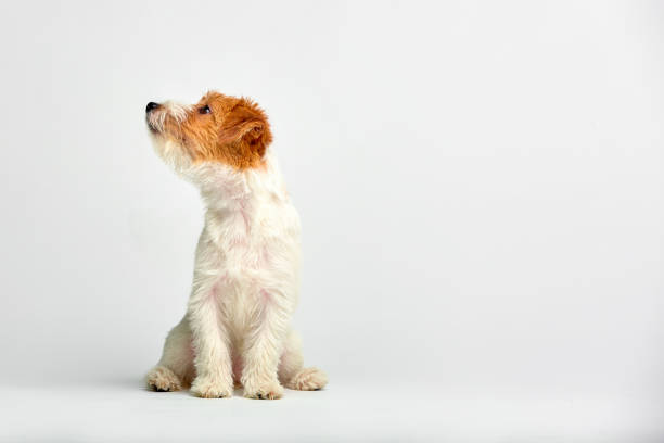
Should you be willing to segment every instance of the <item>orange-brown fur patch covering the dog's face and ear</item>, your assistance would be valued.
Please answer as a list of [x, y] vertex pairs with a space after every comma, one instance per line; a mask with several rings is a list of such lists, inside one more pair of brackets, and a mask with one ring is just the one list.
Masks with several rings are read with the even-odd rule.
[[[202, 113], [205, 106], [209, 113]], [[261, 167], [272, 134], [267, 115], [246, 98], [208, 92], [178, 123], [168, 118], [164, 127], [195, 163], [221, 162], [237, 169]]]

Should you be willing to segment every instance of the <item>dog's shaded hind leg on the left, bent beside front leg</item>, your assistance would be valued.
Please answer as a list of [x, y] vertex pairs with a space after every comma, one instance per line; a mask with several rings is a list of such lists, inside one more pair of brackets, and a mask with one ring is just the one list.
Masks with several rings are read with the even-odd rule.
[[194, 377], [191, 329], [187, 316], [168, 332], [159, 363], [148, 372], [145, 381], [153, 391], [179, 391]]

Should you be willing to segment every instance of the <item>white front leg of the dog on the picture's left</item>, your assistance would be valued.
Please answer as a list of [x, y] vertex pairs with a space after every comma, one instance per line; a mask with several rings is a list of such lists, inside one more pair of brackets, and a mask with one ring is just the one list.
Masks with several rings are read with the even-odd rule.
[[196, 378], [191, 392], [203, 398], [230, 397], [233, 376], [227, 325], [220, 312], [219, 277], [196, 267], [188, 317]]

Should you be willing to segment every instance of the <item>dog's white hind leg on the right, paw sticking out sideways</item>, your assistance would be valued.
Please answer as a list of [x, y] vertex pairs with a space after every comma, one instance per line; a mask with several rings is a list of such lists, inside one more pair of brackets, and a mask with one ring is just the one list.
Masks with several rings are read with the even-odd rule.
[[318, 368], [305, 368], [302, 340], [292, 329], [286, 336], [279, 362], [279, 381], [288, 389], [317, 391], [328, 384], [328, 376]]

